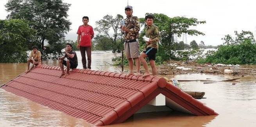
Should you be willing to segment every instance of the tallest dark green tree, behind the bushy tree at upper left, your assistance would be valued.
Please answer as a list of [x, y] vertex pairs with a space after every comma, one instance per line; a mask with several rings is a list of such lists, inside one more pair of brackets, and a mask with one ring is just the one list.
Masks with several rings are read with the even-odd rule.
[[7, 19], [26, 19], [30, 28], [37, 30], [38, 46], [44, 42], [58, 42], [70, 30], [68, 9], [70, 4], [63, 0], [9, 0], [5, 5], [10, 12]]

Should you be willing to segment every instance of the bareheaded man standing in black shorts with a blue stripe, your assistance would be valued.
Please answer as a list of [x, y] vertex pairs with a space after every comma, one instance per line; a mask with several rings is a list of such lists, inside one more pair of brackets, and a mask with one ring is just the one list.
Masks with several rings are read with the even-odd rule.
[[158, 51], [158, 42], [160, 40], [158, 27], [153, 24], [154, 16], [147, 15], [145, 17], [145, 20], [147, 24], [145, 28], [145, 33], [146, 37], [150, 38], [150, 40], [146, 42], [147, 48], [140, 54], [140, 61], [145, 69], [145, 74], [143, 75], [144, 77], [150, 75], [147, 61], [145, 61], [145, 57], [149, 57], [149, 64], [152, 68], [152, 73], [153, 75], [157, 75], [155, 59], [156, 53]]

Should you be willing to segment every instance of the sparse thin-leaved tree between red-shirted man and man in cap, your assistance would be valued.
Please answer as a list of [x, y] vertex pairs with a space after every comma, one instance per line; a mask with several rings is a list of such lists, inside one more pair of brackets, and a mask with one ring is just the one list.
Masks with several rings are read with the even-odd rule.
[[[123, 45], [118, 45], [117, 43], [117, 40], [122, 37], [120, 31], [120, 22], [123, 19], [123, 16], [117, 14], [115, 18], [113, 18], [113, 16], [106, 15], [103, 17], [103, 19], [96, 21], [97, 27], [95, 28], [95, 31], [98, 31], [111, 40], [113, 52], [116, 52], [116, 50], [120, 52], [120, 50], [124, 49]], [[109, 32], [110, 30], [114, 32], [113, 36], [111, 36], [111, 33]]]

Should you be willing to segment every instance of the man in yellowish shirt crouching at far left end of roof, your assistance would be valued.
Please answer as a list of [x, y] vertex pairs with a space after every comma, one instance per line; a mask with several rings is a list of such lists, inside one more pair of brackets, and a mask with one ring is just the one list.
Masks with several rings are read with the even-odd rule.
[[[33, 46], [32, 51], [29, 55], [29, 59], [27, 60], [27, 70], [25, 73], [28, 73], [30, 70], [34, 68], [35, 65], [41, 64], [41, 52], [38, 50], [38, 47]], [[32, 63], [32, 66], [29, 68], [30, 63]]]

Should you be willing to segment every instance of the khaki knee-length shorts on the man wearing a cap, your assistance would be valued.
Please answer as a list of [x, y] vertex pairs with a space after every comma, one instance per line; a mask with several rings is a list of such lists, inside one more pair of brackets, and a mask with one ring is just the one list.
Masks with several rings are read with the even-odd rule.
[[139, 47], [139, 42], [125, 42], [124, 51], [126, 58], [138, 58], [140, 56]]

